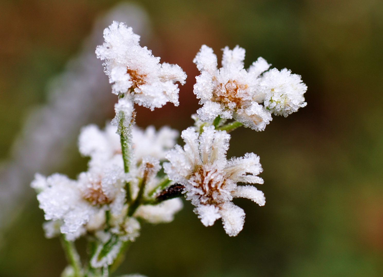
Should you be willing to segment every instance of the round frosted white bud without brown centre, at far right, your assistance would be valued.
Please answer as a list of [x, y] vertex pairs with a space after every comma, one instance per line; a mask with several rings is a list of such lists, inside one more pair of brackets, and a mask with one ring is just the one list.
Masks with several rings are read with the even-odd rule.
[[301, 76], [291, 74], [286, 68], [278, 71], [273, 68], [264, 73], [260, 90], [265, 94], [264, 105], [275, 115], [287, 117], [307, 105], [303, 94], [307, 90]]

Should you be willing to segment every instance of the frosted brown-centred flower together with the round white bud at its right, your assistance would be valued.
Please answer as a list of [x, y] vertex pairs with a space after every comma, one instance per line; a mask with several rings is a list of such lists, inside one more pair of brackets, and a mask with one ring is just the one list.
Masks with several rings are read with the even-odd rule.
[[[196, 77], [194, 94], [203, 104], [197, 113], [201, 121], [234, 118], [246, 127], [263, 131], [272, 120], [271, 113], [284, 115], [304, 107], [307, 86], [301, 76], [290, 70], [268, 70], [262, 57], [244, 69], [245, 49], [223, 49], [222, 67], [217, 69], [213, 49], [202, 45], [193, 62], [201, 75]], [[262, 73], [264, 73], [262, 75]], [[264, 103], [264, 106], [262, 105]]]

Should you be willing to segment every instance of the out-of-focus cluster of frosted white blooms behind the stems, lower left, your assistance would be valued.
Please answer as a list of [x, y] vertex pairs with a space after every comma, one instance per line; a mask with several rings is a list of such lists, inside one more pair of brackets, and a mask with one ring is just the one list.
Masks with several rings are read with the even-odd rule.
[[[169, 127], [156, 132], [153, 126], [146, 130], [135, 126], [134, 162], [131, 172], [124, 173], [120, 138], [116, 131], [117, 127], [110, 124], [106, 125], [105, 131], [96, 125], [82, 129], [79, 150], [90, 160], [88, 171], [80, 173], [77, 180], [58, 173], [49, 177], [36, 174], [31, 186], [38, 192], [40, 208], [44, 210], [45, 219], [49, 220], [44, 224], [48, 238], [63, 233], [67, 240], [73, 241], [86, 233], [94, 233], [104, 242], [111, 235], [118, 235], [121, 241], [134, 241], [141, 228], [137, 219], [151, 223], [170, 222], [182, 209], [182, 201], [175, 198], [160, 204], [140, 205], [132, 216], [127, 216], [129, 206], [125, 190], [128, 182], [129, 193], [133, 200], [136, 199], [140, 180], [146, 175], [143, 196], [151, 199], [149, 193], [155, 191], [161, 181], [156, 177], [161, 168], [160, 161], [175, 145], [178, 132]], [[109, 232], [104, 232], [106, 226], [110, 227]], [[118, 245], [115, 249], [119, 249]], [[113, 259], [113, 255], [108, 255], [100, 261], [94, 259], [92, 263], [101, 267]]]

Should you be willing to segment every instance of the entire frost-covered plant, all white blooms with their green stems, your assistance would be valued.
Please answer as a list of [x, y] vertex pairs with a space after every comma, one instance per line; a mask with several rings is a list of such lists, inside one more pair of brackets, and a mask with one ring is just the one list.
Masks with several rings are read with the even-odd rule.
[[[159, 131], [136, 127], [134, 103], [151, 110], [168, 101], [178, 105], [175, 82], [184, 84], [186, 74], [178, 65], [159, 64], [160, 58], [142, 48], [139, 36], [124, 23], [113, 22], [104, 38], [96, 53], [105, 60], [110, 83], [115, 83], [116, 116], [104, 131], [96, 125], [82, 129], [79, 151], [90, 157], [87, 172], [77, 180], [57, 173], [36, 174], [31, 184], [48, 220], [46, 237], [61, 233], [69, 244], [85, 235], [97, 242], [88, 261], [92, 276], [108, 276], [127, 243], [139, 236], [142, 220], [171, 222], [183, 207], [178, 198], [182, 193], [203, 225], [222, 219], [226, 233], [238, 235], [245, 212], [232, 199], [265, 204], [262, 191], [238, 183], [263, 184], [264, 180], [258, 177], [262, 166], [254, 153], [226, 159], [228, 132], [241, 125], [264, 130], [271, 113], [286, 117], [304, 107], [307, 89], [299, 75], [286, 69], [265, 72], [270, 64], [261, 57], [245, 70], [245, 50], [239, 46], [223, 49], [223, 67], [218, 70], [216, 55], [203, 45], [193, 60], [201, 71], [194, 93], [203, 107], [192, 116], [195, 125], [182, 131], [185, 145], [181, 147], [176, 145], [178, 132], [169, 127]], [[227, 119], [234, 121], [224, 125]], [[75, 251], [74, 246], [67, 251]], [[74, 260], [63, 276], [84, 276], [80, 259]]]

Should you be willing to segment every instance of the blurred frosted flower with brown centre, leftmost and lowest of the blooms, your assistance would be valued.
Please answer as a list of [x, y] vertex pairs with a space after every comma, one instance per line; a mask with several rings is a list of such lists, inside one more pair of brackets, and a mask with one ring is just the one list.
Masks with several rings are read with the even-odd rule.
[[45, 219], [53, 220], [46, 225], [46, 236], [57, 233], [57, 224], [68, 240], [102, 228], [105, 211], [118, 216], [123, 210], [125, 178], [123, 168], [114, 162], [80, 173], [78, 180], [57, 173], [49, 177], [36, 174], [31, 186], [38, 191]]

